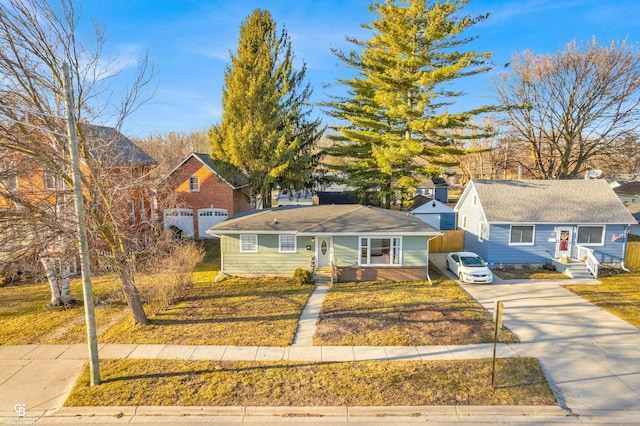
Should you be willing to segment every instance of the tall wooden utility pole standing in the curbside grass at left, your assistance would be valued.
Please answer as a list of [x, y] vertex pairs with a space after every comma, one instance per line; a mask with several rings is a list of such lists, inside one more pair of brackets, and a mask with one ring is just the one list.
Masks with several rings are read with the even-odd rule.
[[100, 368], [98, 366], [98, 338], [96, 335], [96, 320], [93, 310], [93, 291], [91, 290], [91, 274], [89, 265], [89, 243], [87, 241], [87, 227], [84, 216], [84, 201], [82, 198], [82, 177], [80, 175], [80, 161], [78, 159], [78, 134], [73, 117], [73, 98], [71, 95], [71, 77], [69, 65], [62, 65], [64, 77], [65, 107], [67, 109], [67, 131], [69, 133], [69, 152], [73, 167], [73, 198], [76, 208], [78, 248], [80, 251], [80, 271], [82, 274], [82, 295], [84, 299], [84, 317], [87, 324], [87, 340], [89, 345], [89, 368], [91, 370], [91, 386], [100, 384]]

